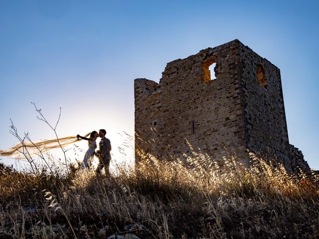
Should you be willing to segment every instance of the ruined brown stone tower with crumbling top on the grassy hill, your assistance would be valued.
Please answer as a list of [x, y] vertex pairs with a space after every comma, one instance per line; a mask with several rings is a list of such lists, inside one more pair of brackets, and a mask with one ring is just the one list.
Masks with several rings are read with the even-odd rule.
[[212, 160], [271, 151], [288, 168], [309, 169], [289, 143], [279, 68], [239, 40], [169, 62], [160, 83], [136, 79], [134, 89], [136, 148], [180, 157], [187, 139]]

